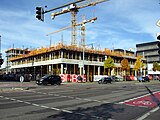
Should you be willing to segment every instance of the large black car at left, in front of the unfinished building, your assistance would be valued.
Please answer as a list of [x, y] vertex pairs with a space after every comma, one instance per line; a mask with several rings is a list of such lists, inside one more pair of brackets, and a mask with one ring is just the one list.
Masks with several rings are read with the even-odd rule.
[[36, 80], [38, 85], [47, 85], [47, 84], [57, 84], [60, 85], [62, 83], [61, 77], [59, 75], [47, 75], [43, 76], [41, 79]]

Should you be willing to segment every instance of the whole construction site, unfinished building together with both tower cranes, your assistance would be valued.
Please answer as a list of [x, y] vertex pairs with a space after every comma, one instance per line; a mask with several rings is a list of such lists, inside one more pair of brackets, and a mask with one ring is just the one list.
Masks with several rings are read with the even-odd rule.
[[[5, 51], [7, 56], [7, 72], [14, 74], [32, 74], [34, 79], [36, 79], [35, 76], [37, 75], [59, 74], [63, 82], [77, 82], [77, 76], [81, 75], [85, 81], [93, 81], [94, 75], [107, 74], [104, 69], [104, 61], [108, 57], [111, 57], [115, 64], [111, 70], [112, 75], [122, 75], [123, 71], [120, 63], [124, 58], [128, 60], [130, 65], [128, 74], [135, 75], [136, 73], [134, 73], [133, 67], [137, 56], [134, 52], [122, 49], [97, 49], [93, 48], [93, 43], [86, 44], [86, 24], [98, 20], [97, 17], [86, 20], [85, 15], [82, 15], [82, 21], [77, 23], [76, 15], [81, 8], [95, 6], [99, 3], [103, 4], [103, 2], [106, 1], [107, 0], [77, 0], [76, 2], [68, 3], [48, 11], [44, 11], [42, 7], [39, 7], [40, 16], [37, 18], [41, 21], [44, 21], [44, 14], [51, 11], [53, 11], [51, 14], [52, 19], [56, 19], [56, 16], [65, 13], [71, 13], [71, 26], [61, 28], [46, 35], [50, 36], [71, 28], [71, 43], [69, 45], [64, 44], [62, 40], [58, 44], [51, 45], [50, 47], [41, 47], [32, 50], [10, 48]], [[59, 11], [54, 12], [55, 10]], [[81, 29], [81, 42], [79, 45], [77, 44], [76, 38], [77, 27]], [[145, 70], [143, 73], [145, 74]]]

